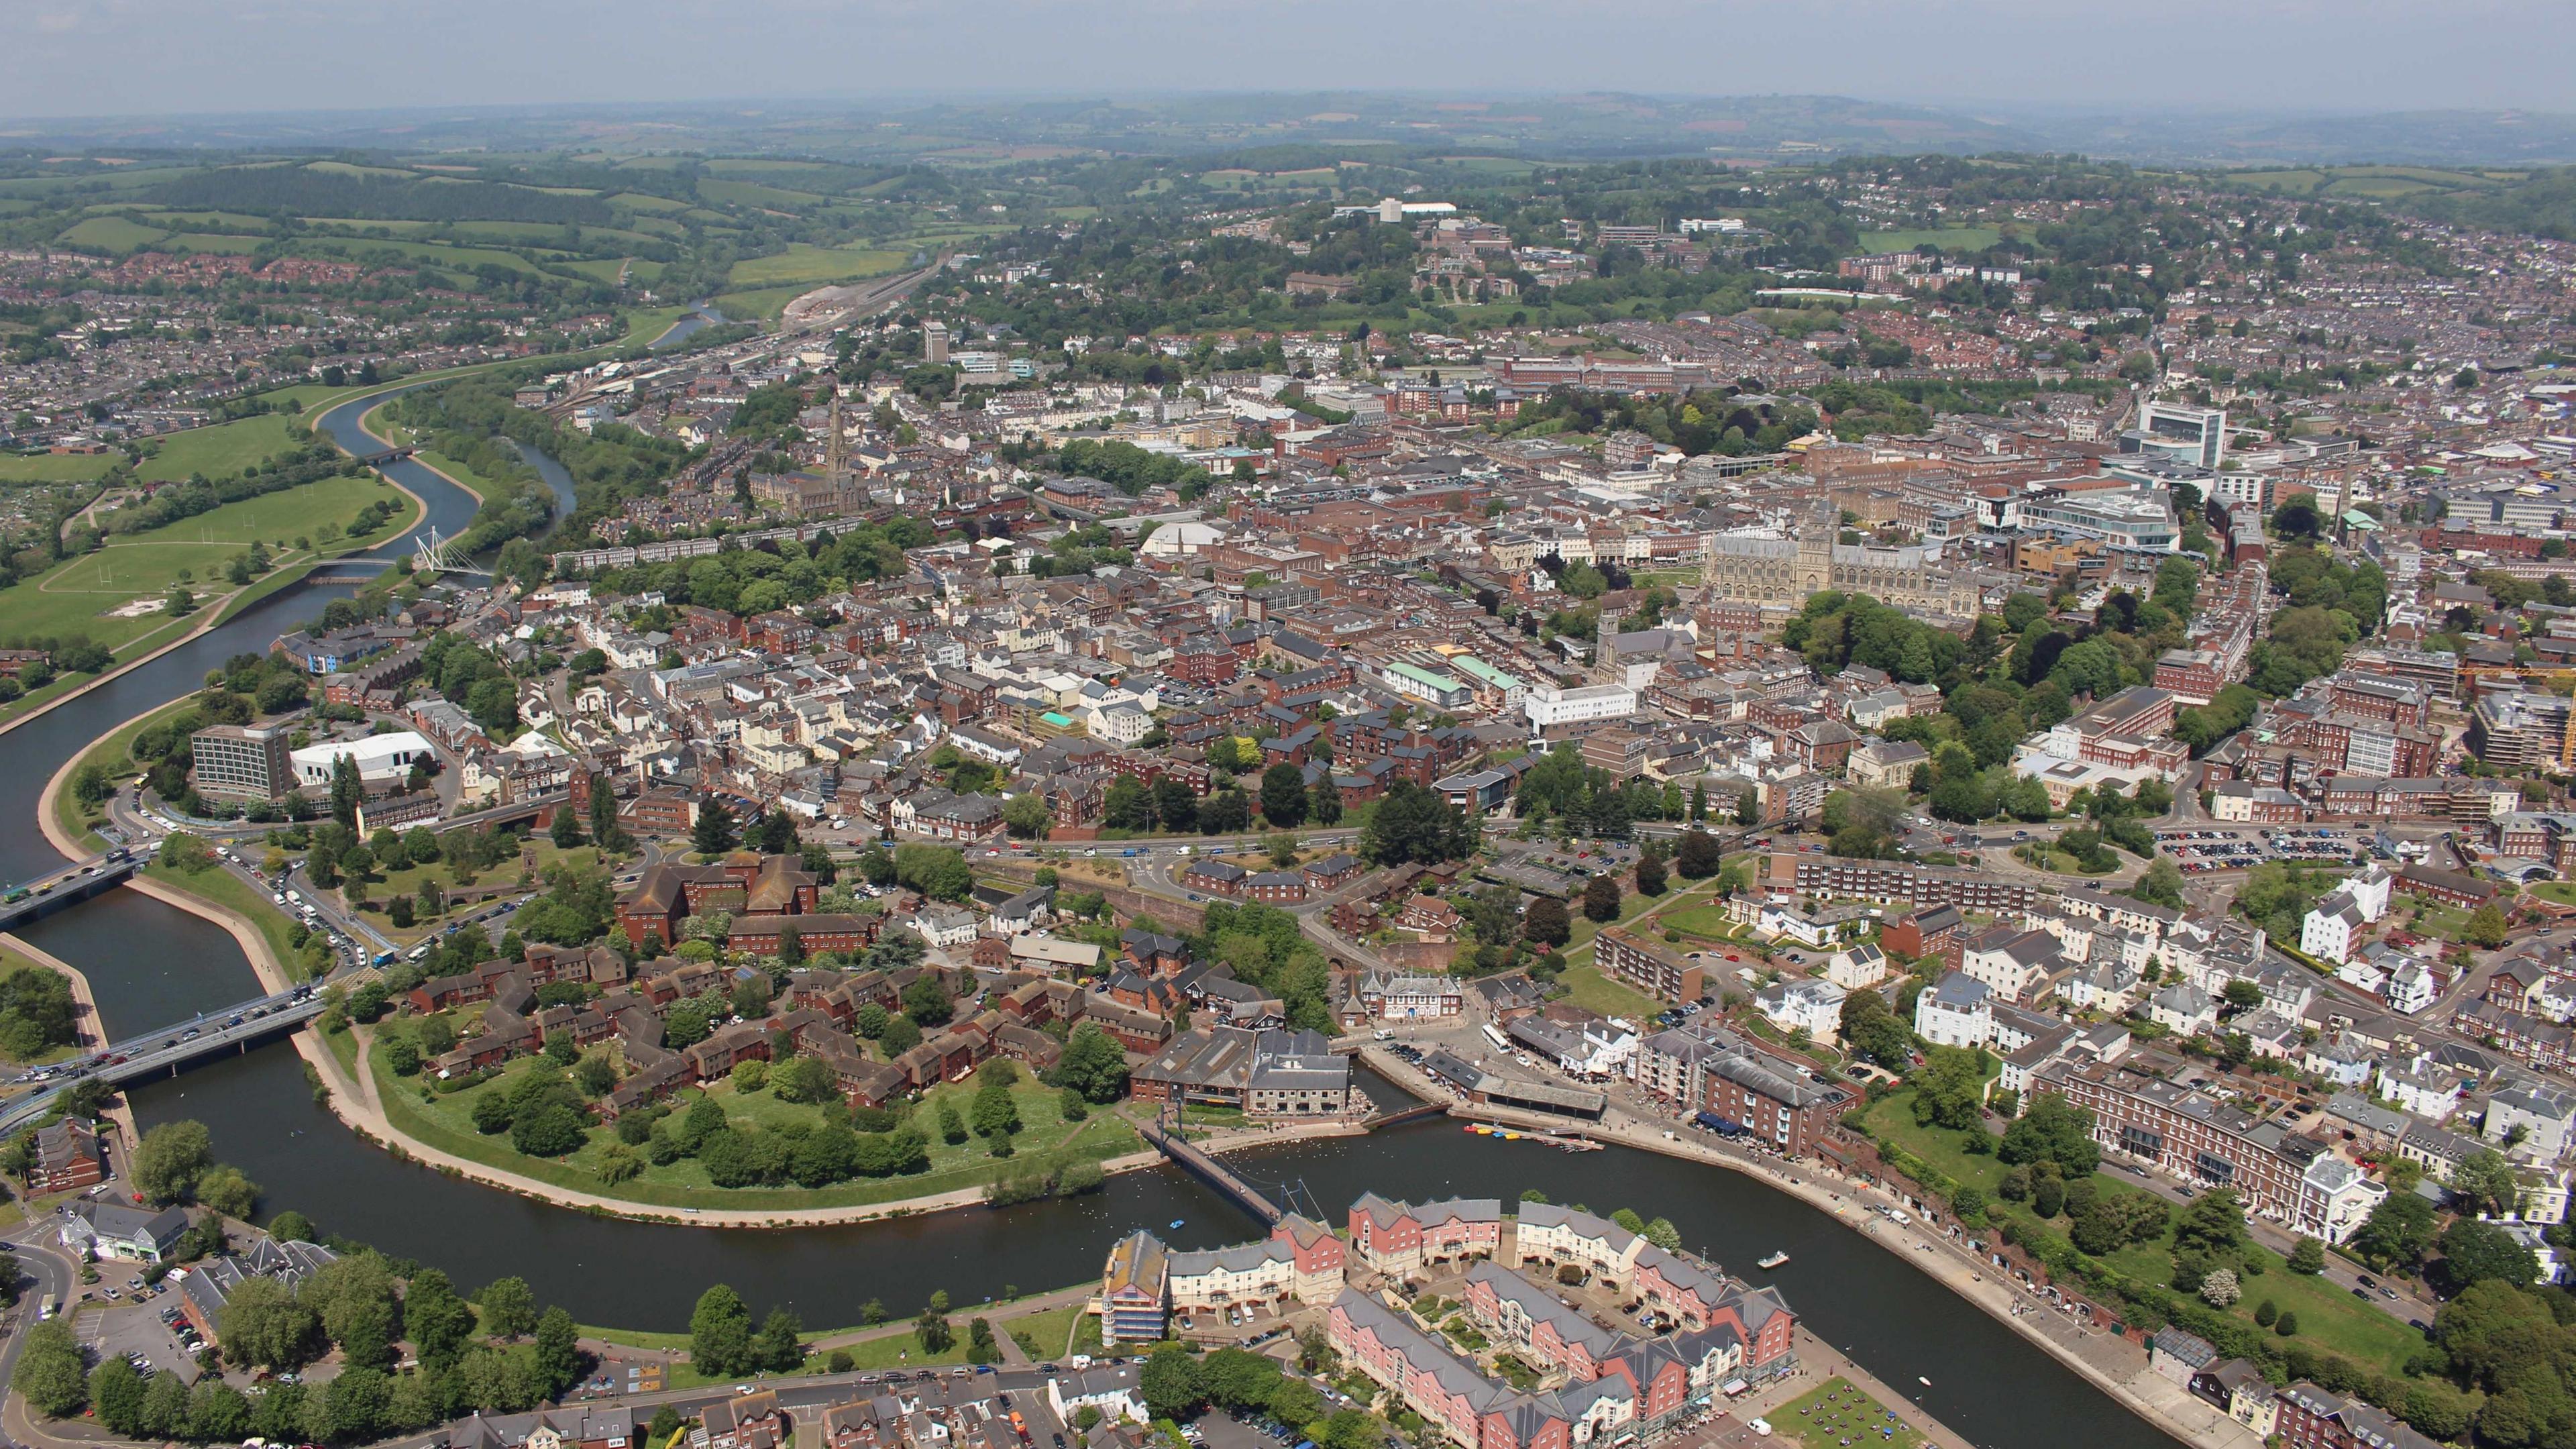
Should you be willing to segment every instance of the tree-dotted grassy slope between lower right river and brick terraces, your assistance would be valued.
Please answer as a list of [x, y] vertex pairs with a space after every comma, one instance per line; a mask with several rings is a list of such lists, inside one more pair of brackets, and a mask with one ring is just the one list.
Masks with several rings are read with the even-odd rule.
[[[1994, 1194], [1996, 1183], [2002, 1183], [2009, 1171], [2002, 1160], [1994, 1155], [1965, 1152], [1965, 1132], [1919, 1127], [1914, 1122], [1911, 1091], [1899, 1091], [1873, 1104], [1868, 1109], [1868, 1129], [1873, 1137], [1914, 1152], [1960, 1183], [1981, 1189], [1986, 1194], [1986, 1217], [2014, 1217], [2025, 1225], [2040, 1225], [2040, 1217], [2030, 1212], [2027, 1204], [2002, 1201]], [[2143, 1191], [2110, 1176], [2097, 1176], [2094, 1183], [2105, 1194]], [[2045, 1227], [2058, 1235], [2066, 1232], [2063, 1220]], [[2105, 1261], [2130, 1279], [2164, 1284], [2174, 1274], [2172, 1248], [2172, 1230], [2166, 1230], [2166, 1238], [2156, 1243], [2130, 1243], [2117, 1253], [2110, 1253]], [[2231, 1310], [2236, 1318], [2246, 1320], [2246, 1325], [2254, 1323], [2254, 1310], [2269, 1299], [2277, 1310], [2298, 1315], [2300, 1338], [2360, 1364], [2393, 1374], [2401, 1372], [2411, 1356], [2424, 1351], [2424, 1336], [2406, 1328], [2403, 1320], [2380, 1312], [2375, 1305], [2354, 1299], [2324, 1276], [2311, 1279], [2293, 1274], [2280, 1253], [2272, 1253], [2259, 1243], [2246, 1248], [2246, 1263], [2262, 1269], [2262, 1274], [2249, 1274], [2244, 1279], [2244, 1299]]]

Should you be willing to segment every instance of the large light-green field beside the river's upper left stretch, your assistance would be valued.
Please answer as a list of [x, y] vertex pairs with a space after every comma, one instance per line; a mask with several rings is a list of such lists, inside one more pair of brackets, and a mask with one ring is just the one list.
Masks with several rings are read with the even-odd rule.
[[[376, 500], [397, 505], [394, 521], [348, 539], [343, 531], [358, 511]], [[124, 611], [185, 585], [198, 608], [234, 585], [224, 570], [252, 541], [268, 547], [273, 567], [314, 562], [317, 552], [296, 549], [307, 539], [327, 552], [389, 539], [412, 526], [420, 508], [376, 477], [325, 477], [281, 492], [227, 503], [196, 518], [180, 518], [139, 534], [113, 534], [98, 552], [54, 565], [52, 572], [0, 596], [0, 637], [90, 637], [121, 655], [144, 642], [162, 642], [196, 624], [196, 616], [170, 619], [162, 611]], [[322, 531], [330, 529], [325, 539]], [[188, 575], [188, 578], [180, 578]]]

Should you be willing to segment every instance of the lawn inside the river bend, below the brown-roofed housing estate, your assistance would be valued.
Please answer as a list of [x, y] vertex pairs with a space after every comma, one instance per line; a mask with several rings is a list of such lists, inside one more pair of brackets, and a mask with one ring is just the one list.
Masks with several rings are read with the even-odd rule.
[[[953, 1101], [958, 1116], [966, 1116], [974, 1098], [974, 1080], [966, 1080], [933, 1088], [925, 1093], [922, 1104], [912, 1109], [914, 1122], [920, 1122], [930, 1134], [927, 1173], [855, 1178], [827, 1189], [719, 1189], [708, 1181], [706, 1168], [696, 1158], [680, 1158], [670, 1165], [647, 1165], [641, 1176], [626, 1183], [605, 1186], [598, 1178], [598, 1160], [600, 1147], [616, 1140], [616, 1132], [608, 1127], [592, 1127], [587, 1142], [564, 1158], [531, 1158], [510, 1147], [507, 1134], [484, 1137], [474, 1129], [474, 1101], [484, 1093], [507, 1091], [510, 1078], [531, 1070], [533, 1065], [536, 1057], [528, 1057], [513, 1062], [502, 1075], [487, 1083], [422, 1098], [422, 1088], [430, 1085], [428, 1078], [397, 1078], [392, 1067], [384, 1065], [381, 1049], [368, 1060], [368, 1070], [376, 1075], [376, 1096], [384, 1098], [386, 1116], [404, 1134], [474, 1163], [523, 1173], [554, 1186], [618, 1196], [639, 1207], [796, 1212], [814, 1207], [899, 1201], [909, 1196], [979, 1189], [1038, 1160], [1108, 1160], [1133, 1152], [1141, 1145], [1136, 1127], [1110, 1109], [1092, 1109], [1090, 1122], [1064, 1122], [1064, 1093], [1038, 1085], [1023, 1075], [1020, 1085], [1012, 1091], [1023, 1122], [1023, 1129], [1012, 1137], [1012, 1145], [1018, 1147], [1012, 1158], [992, 1158], [979, 1137], [969, 1137], [963, 1145], [948, 1145], [940, 1140], [935, 1104]], [[680, 1093], [675, 1106], [685, 1111], [688, 1101], [696, 1101], [698, 1096], [698, 1091]], [[822, 1109], [778, 1101], [768, 1091], [742, 1093], [734, 1091], [732, 1083], [716, 1083], [703, 1096], [724, 1104], [726, 1116], [744, 1124], [822, 1122]]]

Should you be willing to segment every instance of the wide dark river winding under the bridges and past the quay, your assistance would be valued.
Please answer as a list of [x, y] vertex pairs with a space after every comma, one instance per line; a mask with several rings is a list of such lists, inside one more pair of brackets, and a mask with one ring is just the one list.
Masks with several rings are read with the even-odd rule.
[[[371, 451], [358, 431], [363, 407], [335, 407], [322, 425], [345, 446]], [[389, 472], [430, 503], [440, 534], [456, 534], [471, 518], [474, 500], [417, 462], [397, 462]], [[410, 539], [392, 544], [407, 547]], [[389, 554], [379, 549], [379, 557]], [[46, 776], [70, 753], [185, 694], [227, 655], [265, 650], [276, 634], [345, 593], [345, 585], [289, 588], [242, 619], [0, 735], [13, 766], [0, 771], [0, 817], [28, 820]], [[0, 833], [0, 874], [26, 877], [49, 861], [36, 830]], [[111, 1031], [144, 1031], [255, 993], [250, 967], [224, 931], [137, 892], [108, 892], [62, 910], [28, 926], [26, 936], [88, 972]], [[131, 1098], [147, 1129], [180, 1116], [206, 1122], [216, 1155], [263, 1183], [270, 1209], [296, 1207], [330, 1232], [443, 1266], [469, 1287], [518, 1274], [541, 1299], [562, 1302], [582, 1323], [675, 1330], [688, 1323], [696, 1297], [724, 1281], [755, 1312], [786, 1305], [811, 1328], [837, 1328], [858, 1323], [868, 1299], [889, 1315], [909, 1315], [935, 1289], [974, 1305], [1012, 1287], [1036, 1292], [1090, 1279], [1108, 1245], [1133, 1227], [1154, 1227], [1182, 1248], [1236, 1243], [1252, 1232], [1236, 1209], [1170, 1168], [1115, 1176], [1105, 1191], [1072, 1201], [848, 1227], [739, 1232], [598, 1220], [443, 1178], [358, 1142], [314, 1106], [304, 1065], [286, 1049], [222, 1057], [178, 1080], [134, 1088]], [[1311, 1201], [1334, 1222], [1360, 1191], [1517, 1199], [1533, 1186], [1597, 1212], [1633, 1207], [1646, 1217], [1662, 1214], [1692, 1248], [1775, 1281], [1819, 1336], [1880, 1379], [1932, 1379], [1922, 1390], [1924, 1408], [1976, 1444], [2056, 1449], [2069, 1426], [2081, 1426], [2097, 1449], [2172, 1449], [2164, 1434], [2009, 1328], [1891, 1261], [1829, 1214], [1739, 1173], [1631, 1147], [1569, 1155], [1497, 1142], [1443, 1119], [1262, 1150], [1244, 1155], [1242, 1165], [1252, 1178], [1298, 1183], [1298, 1201]], [[1182, 1227], [1164, 1227], [1172, 1220]], [[1772, 1248], [1790, 1253], [1788, 1266], [1752, 1271], [1752, 1261]]]

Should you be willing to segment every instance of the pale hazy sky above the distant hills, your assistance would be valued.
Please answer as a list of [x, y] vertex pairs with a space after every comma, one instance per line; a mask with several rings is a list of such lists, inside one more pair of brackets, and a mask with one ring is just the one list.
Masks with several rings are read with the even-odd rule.
[[0, 0], [0, 116], [889, 90], [2576, 111], [2576, 0]]

